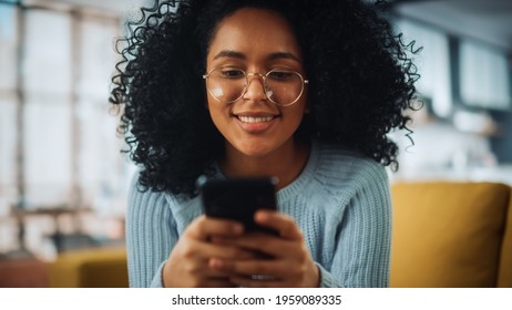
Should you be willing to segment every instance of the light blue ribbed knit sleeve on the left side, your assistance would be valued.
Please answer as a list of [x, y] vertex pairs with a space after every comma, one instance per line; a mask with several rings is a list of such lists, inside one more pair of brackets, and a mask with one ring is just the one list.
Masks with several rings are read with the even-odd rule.
[[126, 250], [130, 287], [163, 287], [162, 266], [177, 232], [163, 193], [137, 189], [137, 175], [130, 188], [126, 215]]

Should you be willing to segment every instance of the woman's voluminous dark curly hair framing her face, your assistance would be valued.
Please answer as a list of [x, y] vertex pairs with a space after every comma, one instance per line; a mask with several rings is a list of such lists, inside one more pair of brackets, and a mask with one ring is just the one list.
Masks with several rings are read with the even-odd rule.
[[[145, 189], [195, 196], [195, 180], [212, 175], [224, 140], [205, 108], [202, 74], [221, 20], [242, 7], [277, 11], [303, 50], [308, 113], [296, 135], [344, 144], [398, 168], [398, 146], [387, 137], [406, 128], [416, 66], [383, 18], [380, 1], [361, 0], [155, 0], [129, 22], [117, 46], [123, 61], [110, 102], [124, 107], [119, 131]], [[257, 25], [255, 25], [257, 27]], [[413, 51], [412, 51], [413, 52]]]

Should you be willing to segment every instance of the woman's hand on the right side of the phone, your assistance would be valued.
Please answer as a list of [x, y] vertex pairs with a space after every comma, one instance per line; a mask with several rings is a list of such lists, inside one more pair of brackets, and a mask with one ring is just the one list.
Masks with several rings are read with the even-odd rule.
[[255, 215], [260, 226], [272, 228], [278, 236], [247, 234], [217, 242], [234, 244], [240, 248], [262, 252], [265, 258], [223, 260], [212, 258], [209, 266], [231, 271], [229, 280], [243, 287], [318, 287], [319, 270], [306, 248], [303, 232], [287, 215], [260, 210]]

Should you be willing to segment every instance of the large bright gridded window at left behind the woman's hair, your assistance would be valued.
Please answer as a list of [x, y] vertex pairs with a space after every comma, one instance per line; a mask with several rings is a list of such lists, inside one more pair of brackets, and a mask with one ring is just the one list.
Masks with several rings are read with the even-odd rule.
[[[120, 153], [124, 141], [107, 102], [122, 14], [0, 1], [0, 252], [16, 241], [12, 207], [91, 208], [82, 231], [102, 239], [112, 219], [122, 223], [134, 166]], [[41, 220], [25, 220], [34, 254], [52, 231]]]

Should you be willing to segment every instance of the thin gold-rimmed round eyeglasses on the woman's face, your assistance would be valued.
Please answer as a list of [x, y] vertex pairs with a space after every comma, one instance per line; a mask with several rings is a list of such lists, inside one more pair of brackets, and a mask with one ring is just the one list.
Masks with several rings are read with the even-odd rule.
[[246, 73], [234, 66], [215, 68], [203, 75], [206, 89], [216, 101], [229, 104], [240, 100], [249, 84], [249, 76], [260, 76], [267, 99], [276, 105], [289, 106], [296, 103], [304, 92], [304, 80], [300, 73], [287, 69], [273, 69], [267, 74]]

